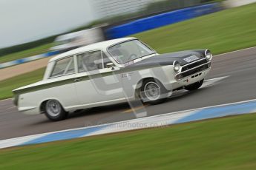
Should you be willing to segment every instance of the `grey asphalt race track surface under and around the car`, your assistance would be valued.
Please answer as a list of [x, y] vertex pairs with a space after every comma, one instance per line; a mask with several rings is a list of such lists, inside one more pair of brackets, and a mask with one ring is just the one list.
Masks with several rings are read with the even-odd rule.
[[[256, 47], [214, 56], [206, 79], [228, 76], [194, 92], [174, 92], [165, 103], [145, 106], [148, 116], [197, 109], [256, 98]], [[137, 108], [141, 110], [140, 108]], [[23, 115], [10, 99], [0, 101], [0, 140], [36, 135], [136, 118], [128, 103], [71, 113], [66, 120], [51, 122], [45, 115]]]

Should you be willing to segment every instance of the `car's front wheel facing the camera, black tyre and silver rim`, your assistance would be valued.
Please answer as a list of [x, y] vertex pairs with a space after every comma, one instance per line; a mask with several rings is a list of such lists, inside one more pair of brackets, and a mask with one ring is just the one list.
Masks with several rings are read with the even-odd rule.
[[154, 105], [165, 101], [164, 96], [167, 94], [167, 90], [159, 81], [148, 79], [143, 81], [140, 94], [142, 101]]

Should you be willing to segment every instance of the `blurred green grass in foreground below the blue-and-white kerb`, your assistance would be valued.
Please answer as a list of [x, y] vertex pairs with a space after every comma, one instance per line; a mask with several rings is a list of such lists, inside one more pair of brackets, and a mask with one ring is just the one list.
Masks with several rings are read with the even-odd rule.
[[256, 115], [0, 150], [0, 169], [256, 169]]

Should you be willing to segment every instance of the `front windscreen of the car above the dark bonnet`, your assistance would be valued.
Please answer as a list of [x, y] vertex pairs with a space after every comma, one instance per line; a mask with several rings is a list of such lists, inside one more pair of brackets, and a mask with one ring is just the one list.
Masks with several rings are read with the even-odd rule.
[[139, 40], [125, 41], [108, 47], [108, 52], [119, 64], [125, 64], [155, 52]]

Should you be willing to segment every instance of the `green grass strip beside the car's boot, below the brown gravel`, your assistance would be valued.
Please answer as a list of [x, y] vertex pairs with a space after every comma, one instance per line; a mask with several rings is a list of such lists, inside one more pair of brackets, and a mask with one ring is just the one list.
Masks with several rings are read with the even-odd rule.
[[44, 75], [45, 68], [37, 69], [33, 72], [18, 75], [13, 78], [8, 78], [0, 81], [0, 100], [4, 98], [11, 98], [13, 96], [12, 90], [27, 84], [41, 81]]

